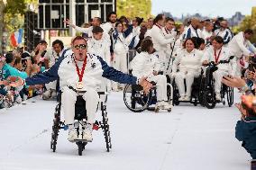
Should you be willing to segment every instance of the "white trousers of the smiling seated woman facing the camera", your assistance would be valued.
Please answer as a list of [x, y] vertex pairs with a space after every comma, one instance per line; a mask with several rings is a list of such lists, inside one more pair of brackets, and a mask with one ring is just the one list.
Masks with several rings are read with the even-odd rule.
[[[190, 70], [189, 72], [178, 72], [175, 74], [175, 82], [178, 86], [178, 93], [179, 96], [191, 96], [191, 86], [194, 83], [194, 78], [200, 76], [200, 72], [195, 72]], [[185, 94], [185, 85], [184, 85], [184, 79], [186, 81], [186, 94]]]

